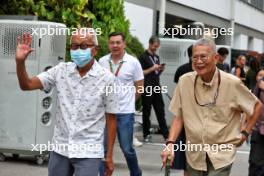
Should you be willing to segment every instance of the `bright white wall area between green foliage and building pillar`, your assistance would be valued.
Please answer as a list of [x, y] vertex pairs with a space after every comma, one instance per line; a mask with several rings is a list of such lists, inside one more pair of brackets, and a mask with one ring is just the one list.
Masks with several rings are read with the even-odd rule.
[[139, 41], [148, 47], [148, 40], [152, 35], [153, 10], [125, 2], [125, 15], [130, 21], [130, 31]]

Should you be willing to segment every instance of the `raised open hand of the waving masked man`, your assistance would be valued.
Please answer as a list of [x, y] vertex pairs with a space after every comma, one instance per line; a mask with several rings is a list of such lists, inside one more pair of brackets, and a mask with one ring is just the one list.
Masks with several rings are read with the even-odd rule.
[[32, 37], [30, 34], [24, 33], [22, 37], [22, 42], [20, 36], [17, 37], [17, 48], [16, 48], [16, 61], [24, 62], [27, 56], [34, 51], [31, 48]]

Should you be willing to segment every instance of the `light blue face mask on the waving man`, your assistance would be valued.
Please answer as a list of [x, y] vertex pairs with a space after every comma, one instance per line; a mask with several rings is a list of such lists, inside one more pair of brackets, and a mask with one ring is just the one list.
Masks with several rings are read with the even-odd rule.
[[91, 48], [71, 50], [71, 59], [78, 67], [84, 67], [91, 59]]

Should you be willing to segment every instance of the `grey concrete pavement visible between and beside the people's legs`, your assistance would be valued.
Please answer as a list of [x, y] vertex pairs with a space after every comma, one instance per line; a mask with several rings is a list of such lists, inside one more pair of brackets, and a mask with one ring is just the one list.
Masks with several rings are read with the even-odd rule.
[[[136, 134], [141, 139], [141, 134]], [[162, 150], [162, 138], [159, 135], [154, 135], [153, 143], [144, 144], [142, 147], [136, 148], [140, 167], [143, 171], [143, 176], [163, 176], [164, 173], [160, 170], [161, 159], [160, 152]], [[247, 176], [248, 169], [248, 152], [247, 145], [242, 146], [237, 153], [235, 163], [232, 168], [231, 176]], [[129, 176], [127, 165], [123, 154], [119, 148], [118, 141], [115, 144], [114, 152], [115, 172], [114, 176]], [[7, 157], [5, 162], [0, 162], [0, 176], [46, 176], [47, 162], [42, 166], [35, 164], [34, 158], [30, 156], [21, 156], [14, 159], [11, 156]], [[172, 176], [183, 175], [181, 171], [172, 171]]]

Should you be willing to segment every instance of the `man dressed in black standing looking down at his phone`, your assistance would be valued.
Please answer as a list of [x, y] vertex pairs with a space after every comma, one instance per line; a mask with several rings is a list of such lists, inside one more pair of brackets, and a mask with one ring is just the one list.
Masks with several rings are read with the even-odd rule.
[[150, 112], [152, 106], [159, 123], [159, 128], [163, 138], [166, 140], [168, 137], [168, 127], [165, 119], [164, 102], [161, 91], [153, 91], [155, 89], [161, 90], [160, 74], [165, 69], [165, 64], [160, 64], [160, 58], [156, 54], [157, 49], [160, 47], [160, 40], [156, 36], [149, 39], [148, 49], [139, 57], [140, 64], [144, 71], [144, 88], [147, 90], [151, 88], [152, 92], [147, 93], [144, 91], [142, 94], [142, 107], [143, 107], [143, 137], [145, 142], [151, 142], [150, 135]]

